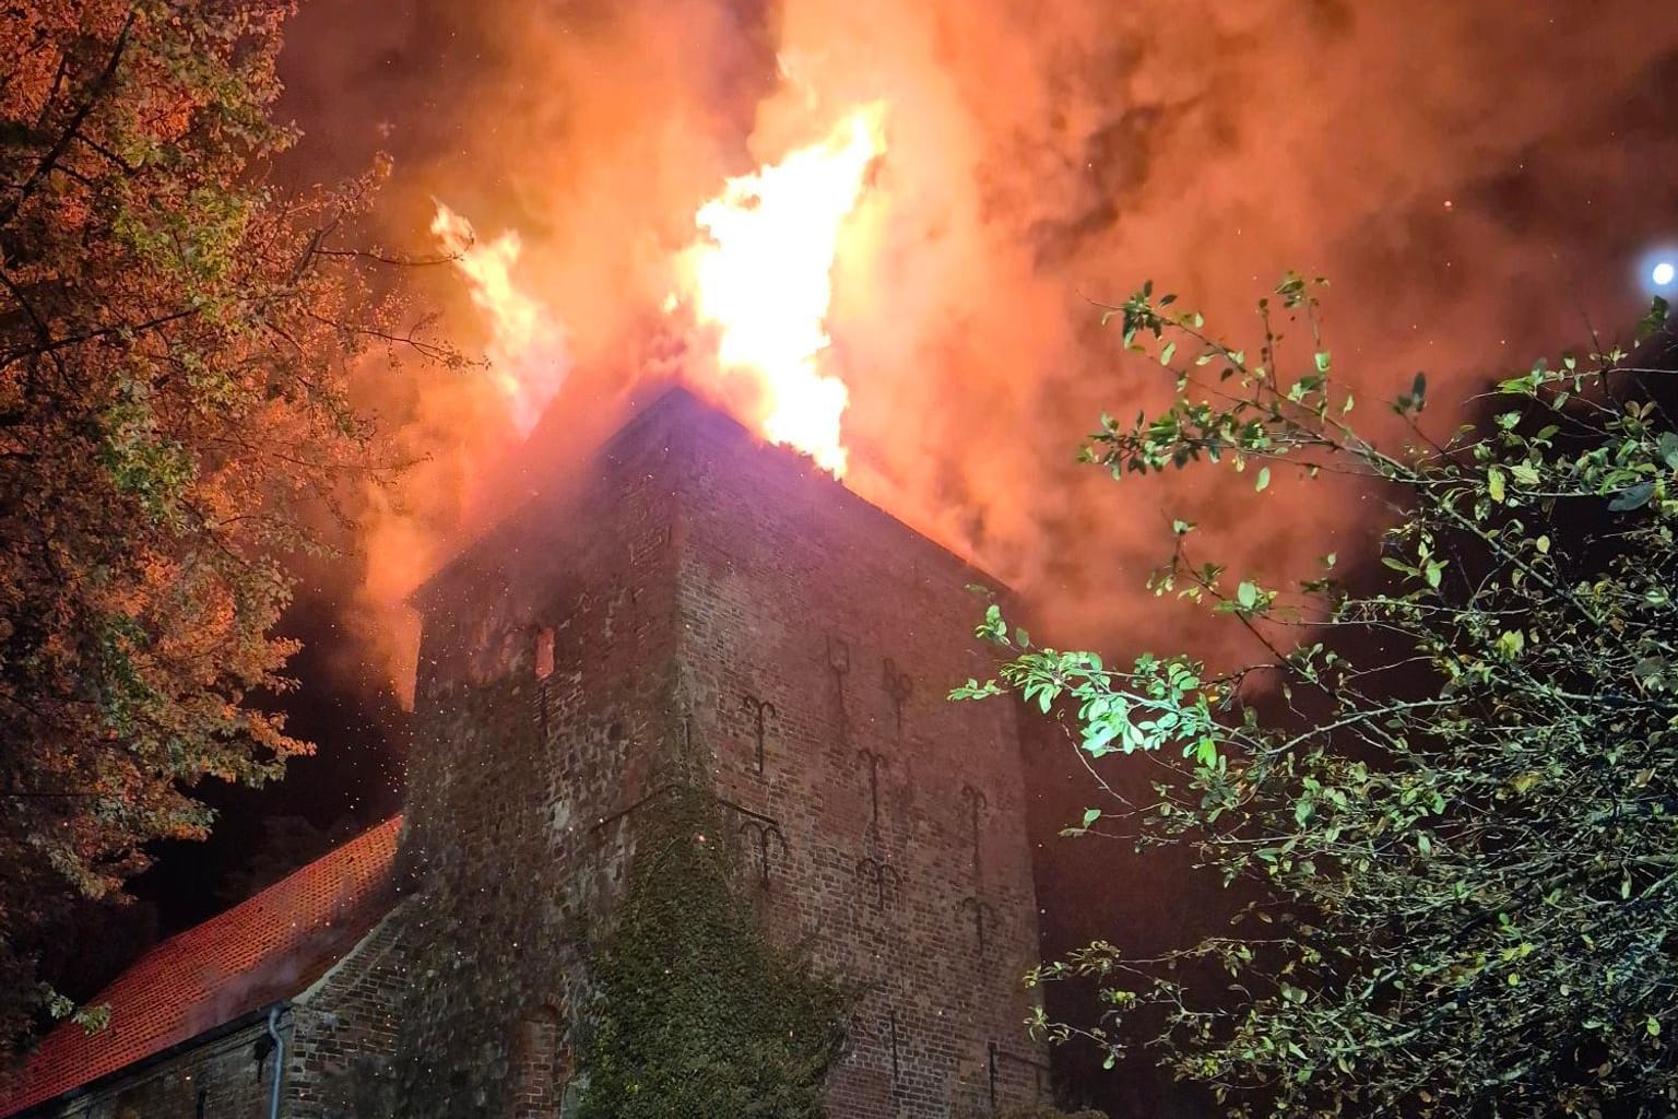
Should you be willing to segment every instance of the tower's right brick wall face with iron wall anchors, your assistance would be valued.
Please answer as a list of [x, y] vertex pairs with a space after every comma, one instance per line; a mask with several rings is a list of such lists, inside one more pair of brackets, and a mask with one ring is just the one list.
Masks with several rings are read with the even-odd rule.
[[1047, 1097], [1024, 1030], [1037, 961], [1014, 708], [983, 678], [987, 582], [728, 421], [686, 428], [681, 668], [763, 906], [868, 985], [834, 1119]]

